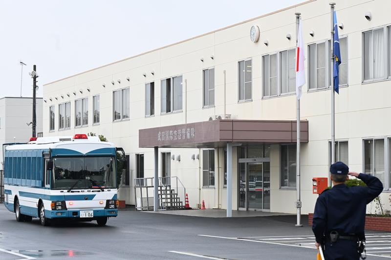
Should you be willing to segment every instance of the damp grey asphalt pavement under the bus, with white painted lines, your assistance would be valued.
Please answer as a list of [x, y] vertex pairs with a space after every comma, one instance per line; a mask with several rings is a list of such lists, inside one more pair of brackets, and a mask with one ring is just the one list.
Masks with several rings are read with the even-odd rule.
[[0, 204], [0, 259], [316, 259], [306, 219], [300, 228], [295, 221], [296, 216], [228, 219], [127, 210], [105, 227], [43, 227], [37, 218], [17, 222]]

